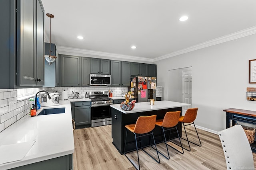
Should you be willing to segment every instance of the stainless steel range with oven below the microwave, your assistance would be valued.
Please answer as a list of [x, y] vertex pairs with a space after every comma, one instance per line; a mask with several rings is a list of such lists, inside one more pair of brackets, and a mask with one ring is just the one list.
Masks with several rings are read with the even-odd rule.
[[111, 125], [110, 104], [113, 100], [108, 98], [108, 92], [90, 92], [89, 98], [92, 100], [92, 127]]

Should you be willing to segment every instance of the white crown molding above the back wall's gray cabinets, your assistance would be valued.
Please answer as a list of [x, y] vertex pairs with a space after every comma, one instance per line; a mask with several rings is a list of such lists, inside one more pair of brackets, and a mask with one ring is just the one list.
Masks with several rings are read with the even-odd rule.
[[92, 50], [85, 50], [85, 49], [77, 49], [72, 47], [63, 47], [63, 46], [56, 46], [59, 54], [64, 55], [78, 55], [83, 57], [98, 57], [98, 58], [112, 58], [116, 60], [122, 61], [144, 61], [146, 63], [153, 63], [153, 59], [144, 58], [144, 57], [137, 57], [137, 56], [130, 56], [130, 55], [122, 55], [116, 53], [106, 53], [102, 51], [92, 51]]

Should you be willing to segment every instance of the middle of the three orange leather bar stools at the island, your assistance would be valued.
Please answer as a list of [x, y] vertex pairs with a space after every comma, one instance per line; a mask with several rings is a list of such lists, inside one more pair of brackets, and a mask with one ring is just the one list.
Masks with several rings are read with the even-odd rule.
[[[180, 135], [178, 133], [178, 129], [177, 129], [177, 126], [176, 126], [179, 123], [179, 118], [180, 118], [180, 111], [168, 111], [164, 115], [164, 119], [156, 120], [156, 125], [160, 126], [162, 128], [162, 130], [163, 130], [163, 133], [164, 133], [164, 143], [166, 144], [166, 149], [167, 149], [168, 157], [165, 156], [164, 154], [162, 154], [161, 152], [159, 152], [159, 151], [158, 152], [160, 154], [162, 154], [166, 159], [170, 159], [170, 154], [169, 154], [167, 146], [169, 146], [169, 147], [171, 147], [171, 148], [173, 148], [175, 150], [177, 150], [177, 149], [172, 147], [171, 145], [167, 144], [166, 136], [165, 136], [165, 131], [170, 130], [170, 135], [171, 135], [172, 129], [176, 129], [176, 132], [177, 132], [179, 140], [180, 140]], [[169, 137], [169, 141], [170, 141], [170, 137]], [[172, 141], [170, 141], [170, 142], [172, 142]], [[172, 143], [174, 143], [174, 142], [172, 142]], [[176, 143], [174, 143], [174, 144], [176, 144]], [[178, 144], [176, 144], [176, 145], [178, 145]], [[177, 150], [177, 151], [183, 154], [184, 150], [183, 150], [181, 141], [180, 141], [180, 147], [182, 148], [182, 152], [179, 151], [179, 150]]]

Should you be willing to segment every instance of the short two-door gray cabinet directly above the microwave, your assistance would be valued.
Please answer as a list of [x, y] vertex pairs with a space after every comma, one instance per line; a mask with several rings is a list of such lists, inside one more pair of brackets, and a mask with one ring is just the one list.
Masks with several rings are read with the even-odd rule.
[[110, 60], [90, 58], [91, 74], [110, 74]]

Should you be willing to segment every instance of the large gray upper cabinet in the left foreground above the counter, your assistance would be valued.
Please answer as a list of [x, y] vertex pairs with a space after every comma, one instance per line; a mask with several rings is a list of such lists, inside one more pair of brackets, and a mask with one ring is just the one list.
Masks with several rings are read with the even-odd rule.
[[[8, 14], [8, 15], [6, 15]], [[0, 88], [44, 85], [44, 8], [40, 0], [1, 0]], [[30, 28], [30, 29], [23, 29]]]

